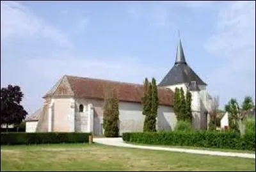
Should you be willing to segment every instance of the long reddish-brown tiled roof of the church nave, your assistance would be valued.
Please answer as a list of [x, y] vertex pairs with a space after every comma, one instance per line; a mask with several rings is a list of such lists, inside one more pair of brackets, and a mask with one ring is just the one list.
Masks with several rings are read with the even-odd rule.
[[[75, 77], [65, 75], [58, 86], [44, 96], [70, 95], [76, 98], [104, 99], [106, 88], [115, 88], [118, 91], [118, 99], [124, 102], [141, 102], [143, 96], [143, 85], [127, 82], [109, 81], [104, 79], [93, 79], [88, 77]], [[159, 105], [172, 106], [173, 92], [168, 88], [158, 88]]]

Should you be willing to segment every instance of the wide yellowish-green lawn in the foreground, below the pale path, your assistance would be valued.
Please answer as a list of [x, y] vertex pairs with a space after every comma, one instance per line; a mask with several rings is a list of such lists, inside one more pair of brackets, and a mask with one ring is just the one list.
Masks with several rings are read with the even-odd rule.
[[255, 159], [95, 143], [1, 146], [1, 171], [255, 171]]

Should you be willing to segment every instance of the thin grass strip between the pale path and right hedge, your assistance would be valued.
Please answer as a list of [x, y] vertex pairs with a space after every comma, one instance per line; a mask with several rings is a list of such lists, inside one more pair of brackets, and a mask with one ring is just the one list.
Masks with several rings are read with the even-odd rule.
[[141, 145], [141, 146], [157, 146], [163, 148], [183, 148], [183, 149], [193, 149], [193, 150], [212, 150], [212, 151], [220, 151], [220, 152], [236, 152], [236, 153], [254, 153], [255, 151], [252, 150], [230, 150], [230, 149], [223, 149], [223, 148], [202, 148], [196, 146], [168, 146], [168, 145], [150, 145], [150, 144], [141, 144], [141, 143], [132, 143], [132, 142], [125, 142], [132, 145]]

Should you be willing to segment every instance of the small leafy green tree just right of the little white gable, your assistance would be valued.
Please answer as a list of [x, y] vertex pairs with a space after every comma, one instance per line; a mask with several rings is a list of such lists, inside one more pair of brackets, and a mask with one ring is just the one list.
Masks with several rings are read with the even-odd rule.
[[239, 132], [239, 105], [237, 104], [236, 99], [231, 98], [231, 100], [225, 106], [225, 110], [228, 112], [229, 129]]

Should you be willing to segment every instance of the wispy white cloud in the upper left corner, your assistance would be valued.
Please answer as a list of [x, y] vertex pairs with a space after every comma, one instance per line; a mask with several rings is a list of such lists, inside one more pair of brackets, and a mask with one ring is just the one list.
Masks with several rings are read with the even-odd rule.
[[32, 39], [38, 35], [53, 40], [60, 47], [72, 47], [72, 42], [65, 33], [47, 24], [26, 6], [13, 1], [1, 1], [1, 42], [18, 38]]

